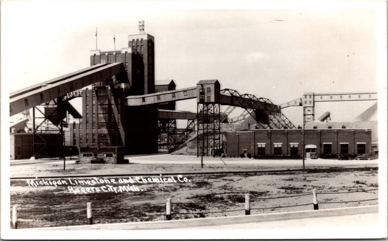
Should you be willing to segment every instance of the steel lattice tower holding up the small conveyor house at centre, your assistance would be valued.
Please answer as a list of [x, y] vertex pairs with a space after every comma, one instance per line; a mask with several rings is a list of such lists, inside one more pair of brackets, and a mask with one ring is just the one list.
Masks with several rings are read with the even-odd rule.
[[197, 156], [218, 155], [220, 144], [220, 104], [197, 103]]

